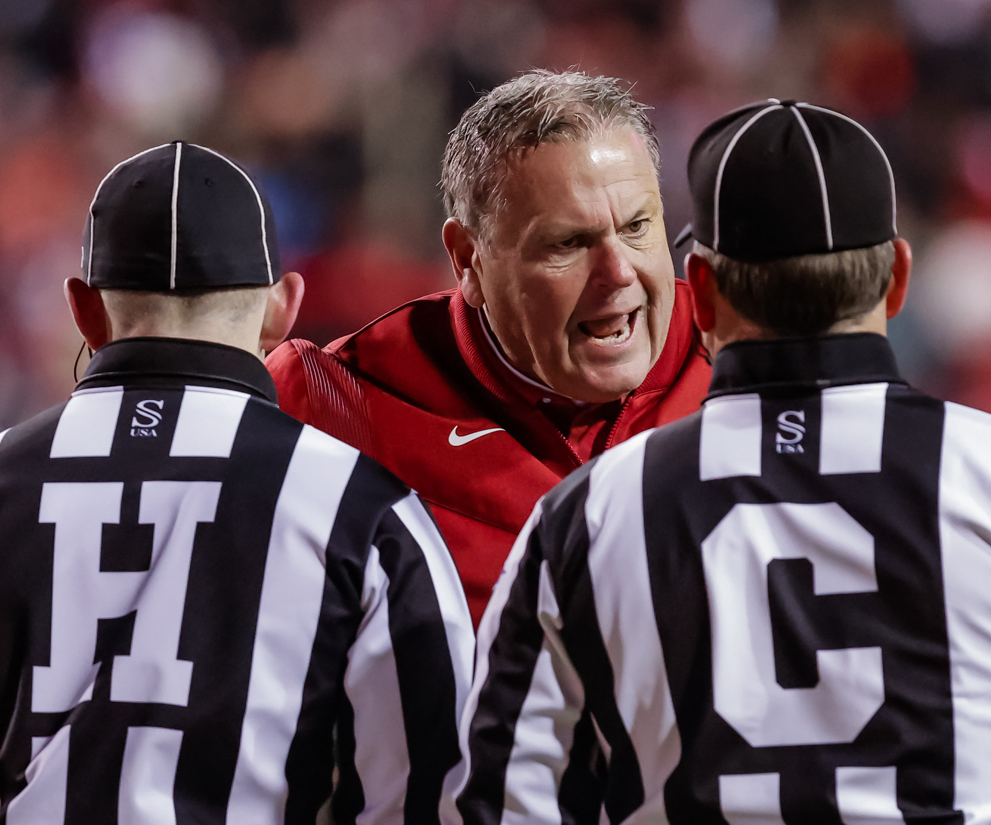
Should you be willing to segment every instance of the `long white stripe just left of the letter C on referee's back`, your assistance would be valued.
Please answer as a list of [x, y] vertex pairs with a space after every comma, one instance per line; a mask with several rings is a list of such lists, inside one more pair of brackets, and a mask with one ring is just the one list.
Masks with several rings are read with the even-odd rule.
[[[664, 785], [681, 758], [681, 737], [654, 615], [643, 524], [643, 462], [650, 432], [605, 453], [585, 502], [588, 568], [616, 706], [640, 765], [638, 819], [665, 821]], [[630, 644], [635, 639], [636, 644]]]

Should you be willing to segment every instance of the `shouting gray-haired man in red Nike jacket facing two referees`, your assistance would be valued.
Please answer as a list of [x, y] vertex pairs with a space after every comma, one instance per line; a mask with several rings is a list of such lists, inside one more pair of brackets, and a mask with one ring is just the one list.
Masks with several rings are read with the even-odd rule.
[[476, 622], [537, 499], [708, 385], [644, 108], [573, 72], [484, 95], [444, 156], [457, 289], [267, 361], [284, 410], [429, 501]]

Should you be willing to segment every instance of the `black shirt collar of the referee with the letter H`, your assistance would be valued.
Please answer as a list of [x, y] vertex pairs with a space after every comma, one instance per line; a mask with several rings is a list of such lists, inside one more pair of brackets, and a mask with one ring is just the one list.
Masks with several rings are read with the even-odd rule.
[[277, 404], [275, 382], [246, 350], [179, 338], [123, 338], [96, 351], [77, 389], [173, 379], [224, 387]]

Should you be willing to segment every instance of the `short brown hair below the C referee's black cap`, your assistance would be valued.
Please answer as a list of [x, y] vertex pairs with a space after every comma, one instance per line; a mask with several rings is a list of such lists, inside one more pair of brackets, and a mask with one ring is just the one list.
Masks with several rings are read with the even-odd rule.
[[821, 335], [870, 312], [884, 297], [895, 262], [893, 241], [761, 263], [727, 258], [698, 241], [692, 251], [712, 265], [733, 309], [781, 337]]

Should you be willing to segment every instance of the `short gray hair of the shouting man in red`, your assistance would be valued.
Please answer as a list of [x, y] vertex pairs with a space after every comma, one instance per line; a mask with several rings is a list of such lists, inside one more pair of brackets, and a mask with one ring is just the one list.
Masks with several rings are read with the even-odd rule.
[[497, 86], [462, 115], [447, 142], [441, 188], [448, 217], [480, 232], [482, 219], [498, 211], [511, 156], [543, 142], [583, 140], [629, 126], [657, 169], [660, 152], [648, 108], [618, 79], [584, 72], [534, 69]]

